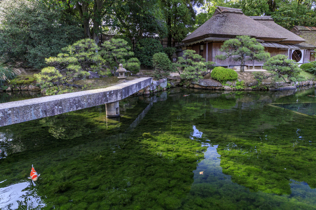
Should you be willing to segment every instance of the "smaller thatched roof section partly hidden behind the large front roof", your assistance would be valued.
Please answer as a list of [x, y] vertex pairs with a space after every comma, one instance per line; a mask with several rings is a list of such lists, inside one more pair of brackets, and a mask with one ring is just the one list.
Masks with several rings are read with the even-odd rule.
[[286, 39], [280, 41], [279, 43], [284, 44], [299, 44], [303, 41], [305, 41], [304, 38], [301, 38], [300, 36], [288, 31], [287, 29], [284, 29], [282, 26], [277, 25], [271, 16], [250, 16], [255, 21], [258, 21], [262, 25], [274, 30], [278, 34], [285, 36]]

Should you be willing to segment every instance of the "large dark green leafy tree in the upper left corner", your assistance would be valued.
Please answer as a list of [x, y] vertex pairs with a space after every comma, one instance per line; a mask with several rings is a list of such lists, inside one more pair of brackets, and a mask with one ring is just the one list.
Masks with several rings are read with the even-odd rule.
[[2, 0], [0, 52], [35, 68], [83, 37], [78, 22], [37, 0]]

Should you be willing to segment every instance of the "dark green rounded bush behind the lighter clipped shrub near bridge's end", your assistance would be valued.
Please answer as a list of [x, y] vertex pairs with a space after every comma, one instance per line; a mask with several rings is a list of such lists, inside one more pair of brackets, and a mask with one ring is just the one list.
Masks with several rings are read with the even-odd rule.
[[141, 64], [149, 68], [153, 67], [153, 56], [162, 52], [162, 45], [157, 39], [143, 38], [139, 40], [135, 47], [135, 56]]

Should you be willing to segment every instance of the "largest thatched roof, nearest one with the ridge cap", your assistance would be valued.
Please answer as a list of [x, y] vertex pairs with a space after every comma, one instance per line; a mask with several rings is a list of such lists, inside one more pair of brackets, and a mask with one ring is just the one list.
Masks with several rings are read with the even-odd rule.
[[189, 43], [206, 37], [235, 38], [236, 35], [249, 35], [264, 41], [287, 38], [244, 15], [241, 9], [217, 6], [213, 16], [182, 42]]

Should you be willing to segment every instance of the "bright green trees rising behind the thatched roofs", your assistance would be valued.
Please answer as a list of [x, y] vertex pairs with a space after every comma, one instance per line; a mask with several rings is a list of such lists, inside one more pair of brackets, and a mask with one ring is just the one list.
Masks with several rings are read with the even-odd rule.
[[247, 16], [272, 16], [278, 25], [288, 30], [298, 25], [315, 26], [315, 4], [315, 0], [205, 0], [196, 28], [211, 18], [216, 6], [238, 8]]

